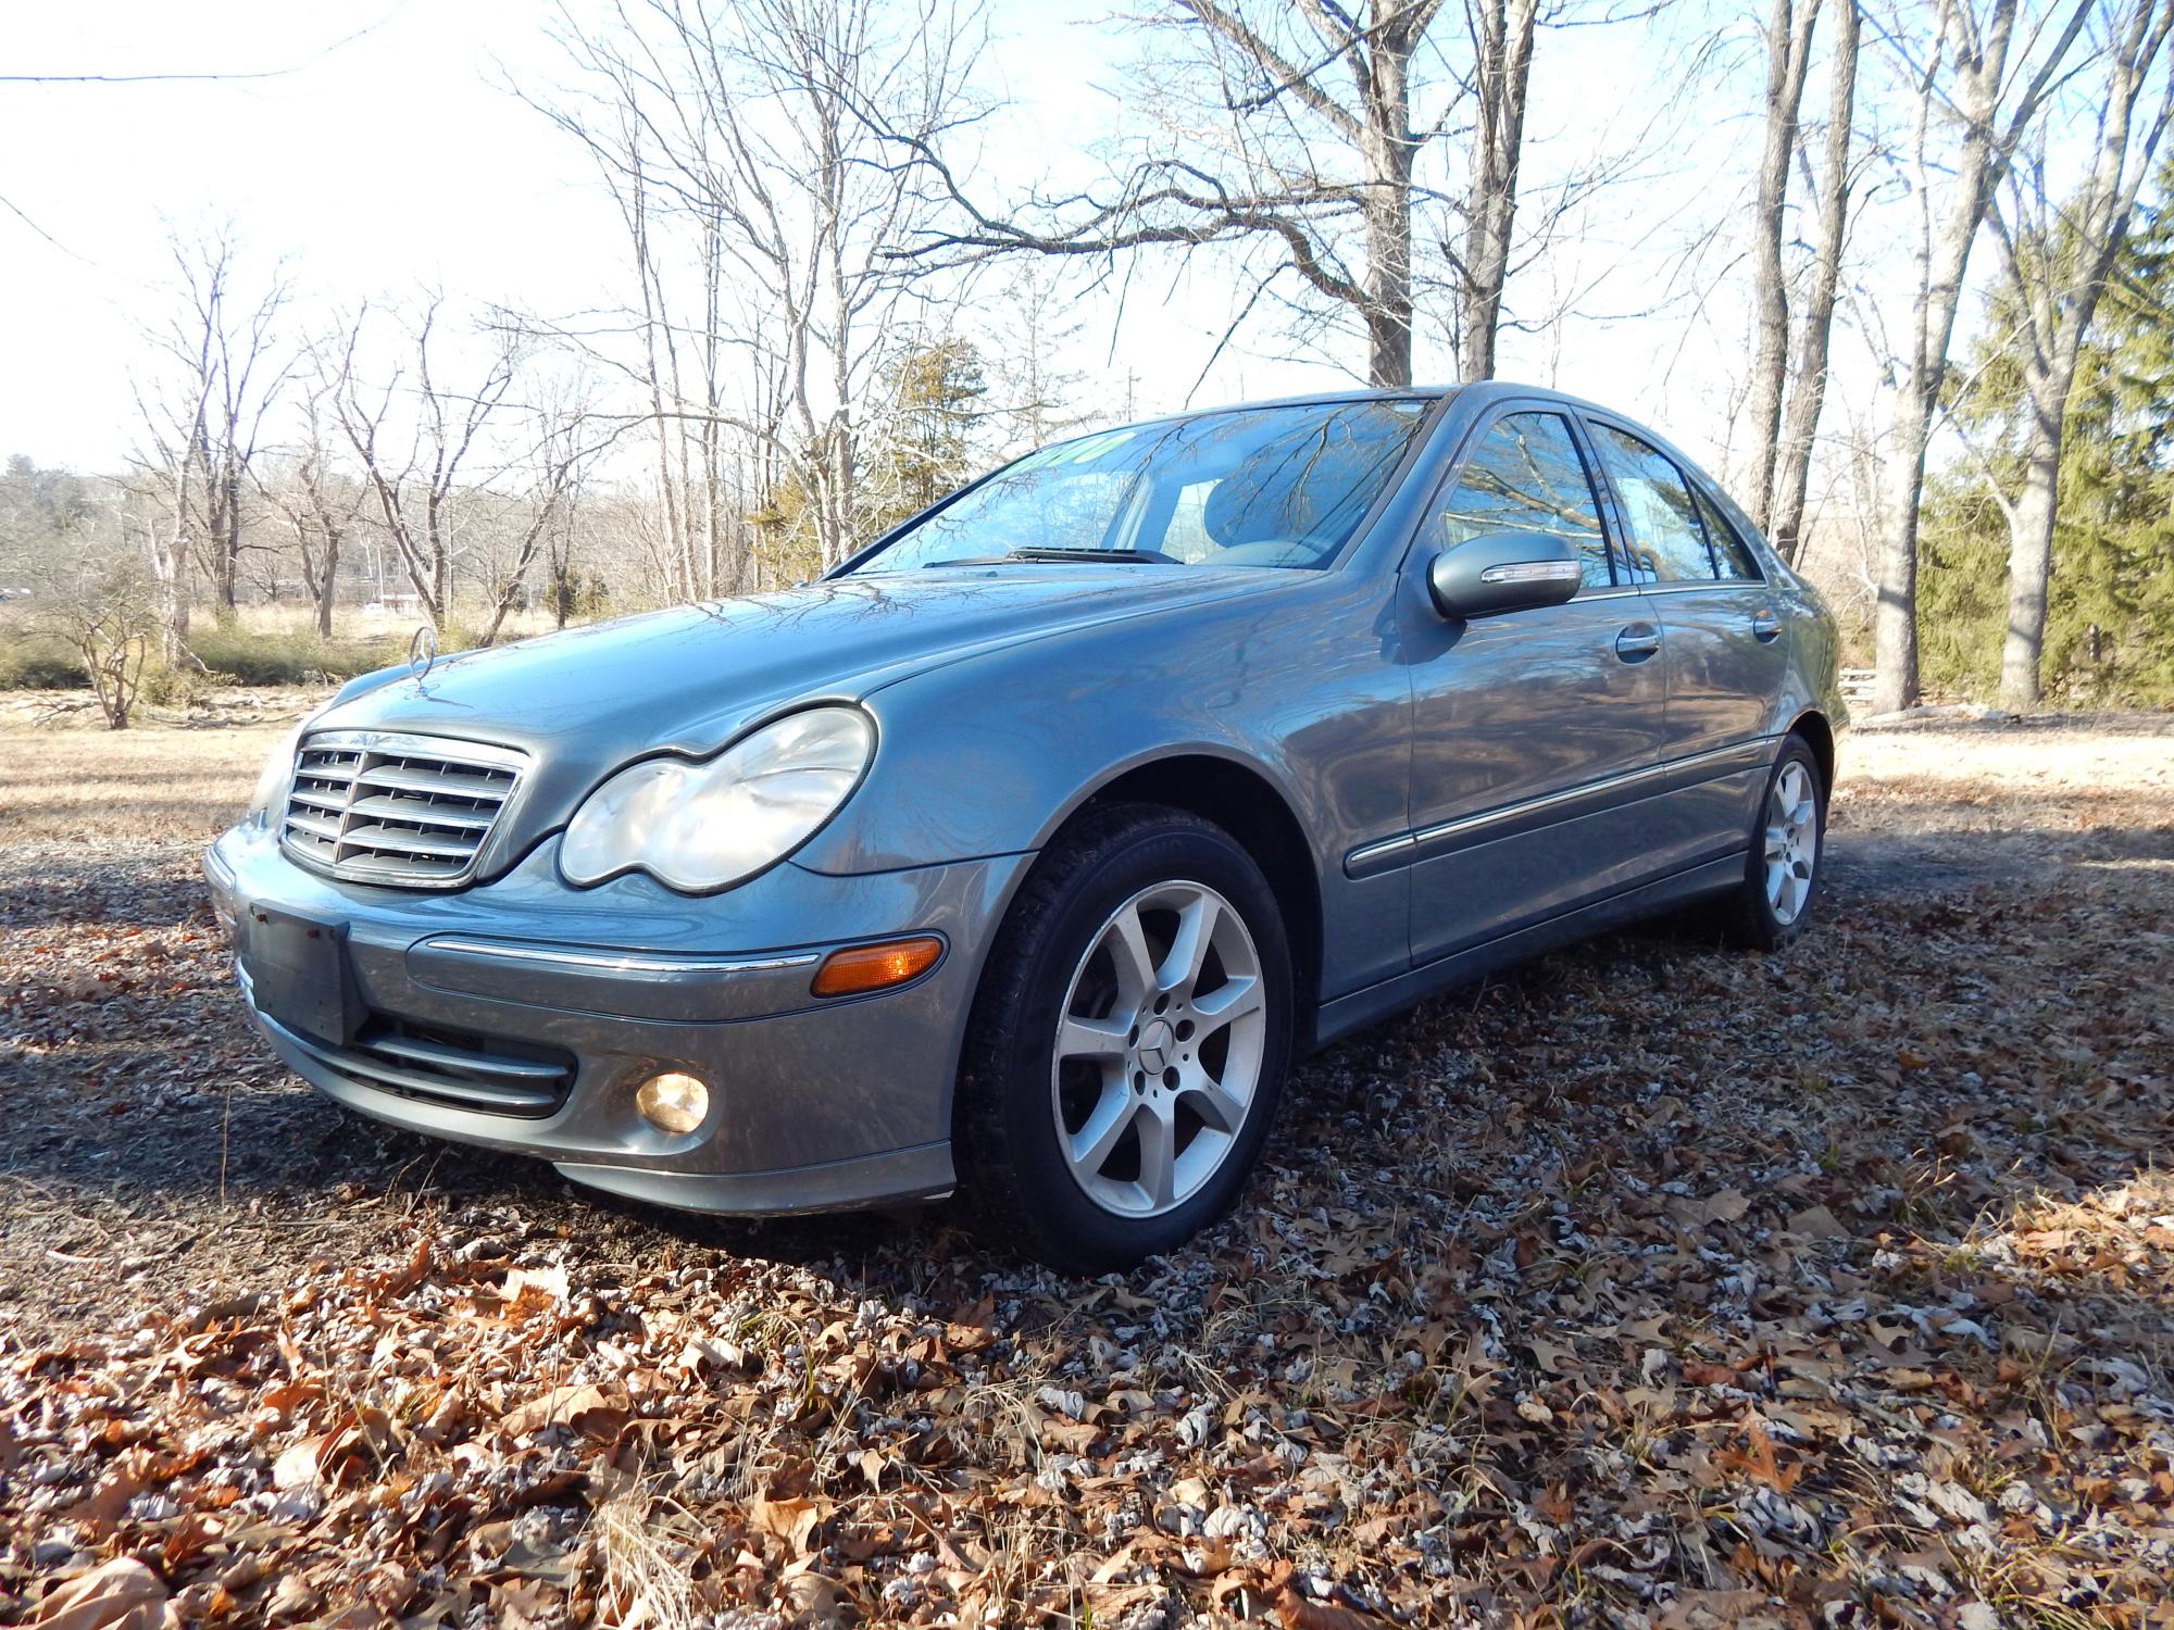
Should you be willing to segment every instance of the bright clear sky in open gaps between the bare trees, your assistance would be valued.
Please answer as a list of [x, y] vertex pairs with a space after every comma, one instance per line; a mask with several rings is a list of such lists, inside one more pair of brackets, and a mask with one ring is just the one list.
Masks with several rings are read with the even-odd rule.
[[[1741, 35], [1748, 20], [1720, 11], [1724, 33]], [[270, 76], [0, 85], [0, 454], [100, 469], [137, 441], [130, 380], [143, 326], [170, 298], [174, 228], [233, 220], [259, 263], [285, 259], [298, 324], [426, 283], [546, 313], [604, 300], [620, 280], [617, 220], [583, 154], [507, 91], [559, 74], [548, 13], [537, 0], [7, 7], [0, 74]], [[1104, 15], [1102, 0], [996, 7], [985, 78], [1011, 106], [985, 148], [994, 191], [1076, 176], [1080, 146], [1109, 130], [1133, 41]], [[1700, 39], [1700, 26], [1667, 39], [1550, 35], [1530, 174], [1650, 117]], [[1528, 302], [1559, 291], [1583, 315], [1509, 335], [1504, 374], [1620, 402], [1694, 452], [1715, 448], [1741, 372], [1741, 315], [1663, 285], [1683, 239], [1744, 183], [1754, 98], [1728, 102], [1741, 122], [1672, 128], [1648, 180], [1528, 274]], [[1663, 296], [1663, 315], [1635, 315]], [[1341, 367], [1280, 359], [1259, 333], [1200, 380], [1235, 300], [1220, 272], [1144, 265], [1122, 326], [1109, 296], [1083, 302], [1067, 361], [1094, 376], [1104, 406], [1128, 391], [1139, 411], [1309, 389], [1363, 365], [1357, 346]]]

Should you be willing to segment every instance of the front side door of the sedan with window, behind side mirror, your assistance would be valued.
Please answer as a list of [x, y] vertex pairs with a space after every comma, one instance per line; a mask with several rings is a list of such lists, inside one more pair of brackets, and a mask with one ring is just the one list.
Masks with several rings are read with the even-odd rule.
[[1665, 858], [1639, 772], [1665, 752], [1652, 604], [1615, 561], [1591, 454], [1552, 404], [1487, 419], [1444, 480], [1407, 572], [1480, 532], [1567, 537], [1585, 561], [1559, 606], [1444, 622], [1413, 665], [1415, 965], [1591, 904]]

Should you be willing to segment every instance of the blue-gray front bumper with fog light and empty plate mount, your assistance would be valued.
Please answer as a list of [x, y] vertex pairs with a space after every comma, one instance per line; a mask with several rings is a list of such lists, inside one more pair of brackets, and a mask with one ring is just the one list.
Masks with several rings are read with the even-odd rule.
[[[326, 1095], [417, 1132], [546, 1158], [622, 1195], [770, 1215], [950, 1191], [965, 1017], [1030, 858], [872, 876], [785, 863], [687, 898], [641, 876], [572, 889], [552, 839], [493, 882], [420, 893], [322, 878], [280, 854], [272, 832], [237, 826], [207, 852], [204, 876], [226, 924], [246, 924], [252, 906], [343, 924], [365, 1037], [393, 1037], [383, 1052], [287, 1028], [243, 978], [250, 1017]], [[898, 935], [937, 935], [946, 954], [891, 991], [811, 995], [826, 952]], [[446, 1052], [446, 1037], [474, 1052]], [[441, 1078], [407, 1063], [433, 1054], [517, 1082], [507, 1102], [535, 1102], [511, 1113], [489, 1102], [493, 1091], [452, 1102], [428, 1084]], [[665, 1069], [711, 1089], [691, 1132], [635, 1113], [635, 1087]], [[548, 1091], [533, 1091], [546, 1078]]]

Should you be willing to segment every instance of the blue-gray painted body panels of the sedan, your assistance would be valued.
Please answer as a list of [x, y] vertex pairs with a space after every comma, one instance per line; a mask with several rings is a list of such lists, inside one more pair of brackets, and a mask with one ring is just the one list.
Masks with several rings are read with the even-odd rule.
[[[354, 1108], [622, 1193], [874, 1204], [950, 1184], [952, 1078], [994, 930], [1052, 835], [1144, 765], [1239, 765], [1296, 817], [1311, 874], [1280, 885], [1320, 904], [1315, 1037], [1731, 887], [1776, 741], [1809, 713], [1844, 724], [1831, 619], [1728, 506], [1765, 582], [1446, 622], [1422, 519], [1470, 437], [1513, 406], [1583, 404], [1439, 393], [1328, 569], [833, 574], [357, 680], [313, 728], [530, 754], [476, 882], [339, 882], [235, 828], [207, 856], [215, 893], [348, 924], [372, 1011], [563, 1048], [578, 1076], [565, 1108], [524, 1121], [359, 1087], [267, 1026], [274, 1048]], [[1778, 635], [1754, 632], [1759, 613]], [[878, 748], [787, 863], [704, 898], [639, 874], [559, 878], [557, 832], [628, 761], [704, 756], [826, 700], [865, 706]], [[904, 932], [946, 941], [915, 985], [809, 995], [826, 950]], [[630, 1102], [670, 1067], [717, 1084], [685, 1137]]]

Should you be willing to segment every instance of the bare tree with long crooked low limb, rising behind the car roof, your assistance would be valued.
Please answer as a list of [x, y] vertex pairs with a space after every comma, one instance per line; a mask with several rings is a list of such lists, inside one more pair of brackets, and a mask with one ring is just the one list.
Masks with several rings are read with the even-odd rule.
[[[1367, 380], [1391, 387], [1413, 378], [1417, 291], [1446, 287], [1459, 374], [1491, 378], [1520, 259], [1537, 33], [1613, 15], [1587, 15], [1580, 0], [1465, 0], [1454, 13], [1444, 0], [1161, 0], [1146, 26], [1176, 48], [1150, 48], [1139, 65], [1137, 100], [1150, 128], [1113, 191], [1004, 209], [974, 198], [959, 165], [917, 148], [937, 165], [959, 220], [911, 254], [974, 261], [1230, 246], [1254, 283], [1241, 319], [1263, 293], [1296, 280], [1285, 304], [1300, 322], [1357, 324]], [[1459, 141], [1463, 176], [1450, 180], [1448, 150]], [[1435, 152], [1439, 165], [1428, 163]], [[1600, 156], [1557, 178], [1544, 222], [1574, 215], [1620, 167], [1620, 156]], [[1422, 246], [1439, 256], [1433, 269], [1422, 265]]]

